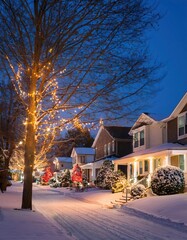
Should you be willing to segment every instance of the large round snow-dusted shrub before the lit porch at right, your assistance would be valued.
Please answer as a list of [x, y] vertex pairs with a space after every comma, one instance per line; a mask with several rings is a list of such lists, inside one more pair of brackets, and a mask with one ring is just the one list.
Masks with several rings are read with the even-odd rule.
[[184, 192], [183, 171], [174, 166], [159, 167], [151, 178], [152, 191], [157, 195], [169, 195]]

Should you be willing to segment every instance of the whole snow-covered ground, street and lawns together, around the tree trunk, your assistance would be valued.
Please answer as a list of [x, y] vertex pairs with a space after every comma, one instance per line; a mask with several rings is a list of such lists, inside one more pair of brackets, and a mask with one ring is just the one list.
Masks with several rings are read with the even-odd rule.
[[1, 240], [187, 239], [187, 194], [148, 197], [110, 209], [121, 193], [33, 187], [34, 210], [21, 205], [22, 185], [0, 194]]

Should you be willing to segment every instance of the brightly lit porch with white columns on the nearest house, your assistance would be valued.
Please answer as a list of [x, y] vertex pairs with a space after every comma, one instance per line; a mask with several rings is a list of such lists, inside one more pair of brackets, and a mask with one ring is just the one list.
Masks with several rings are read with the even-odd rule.
[[149, 185], [151, 175], [157, 167], [172, 165], [184, 171], [187, 184], [187, 146], [163, 144], [157, 149], [146, 149], [114, 161], [116, 171], [121, 165], [127, 167], [127, 179], [131, 183], [148, 175], [147, 184]]

